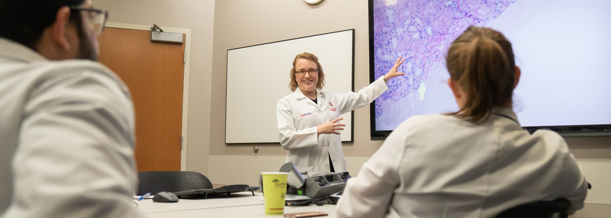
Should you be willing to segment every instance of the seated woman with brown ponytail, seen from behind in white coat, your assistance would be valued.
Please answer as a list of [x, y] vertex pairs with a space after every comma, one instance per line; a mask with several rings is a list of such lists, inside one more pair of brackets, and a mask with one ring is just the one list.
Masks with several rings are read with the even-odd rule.
[[518, 85], [511, 43], [469, 27], [447, 54], [451, 114], [399, 125], [348, 180], [338, 217], [494, 217], [540, 200], [584, 206], [587, 183], [565, 140], [523, 130], [511, 110]]

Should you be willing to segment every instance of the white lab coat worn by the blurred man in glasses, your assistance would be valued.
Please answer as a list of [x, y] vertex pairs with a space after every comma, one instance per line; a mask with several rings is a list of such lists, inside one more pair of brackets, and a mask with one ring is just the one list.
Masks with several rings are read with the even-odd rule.
[[108, 68], [0, 38], [0, 217], [142, 217], [134, 109]]

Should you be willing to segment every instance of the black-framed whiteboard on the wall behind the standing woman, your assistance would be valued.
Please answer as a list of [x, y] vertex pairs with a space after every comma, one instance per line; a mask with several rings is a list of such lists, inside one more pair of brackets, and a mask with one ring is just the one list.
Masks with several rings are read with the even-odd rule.
[[[318, 56], [322, 90], [354, 90], [354, 29], [227, 50], [225, 144], [279, 142], [276, 105], [293, 92], [290, 70], [297, 54]], [[342, 114], [340, 137], [353, 140], [353, 112]]]

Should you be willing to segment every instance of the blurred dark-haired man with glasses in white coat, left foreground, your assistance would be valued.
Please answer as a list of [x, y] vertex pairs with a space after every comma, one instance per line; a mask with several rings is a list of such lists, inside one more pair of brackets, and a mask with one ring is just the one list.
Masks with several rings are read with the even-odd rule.
[[90, 0], [0, 1], [0, 217], [141, 217], [134, 109]]

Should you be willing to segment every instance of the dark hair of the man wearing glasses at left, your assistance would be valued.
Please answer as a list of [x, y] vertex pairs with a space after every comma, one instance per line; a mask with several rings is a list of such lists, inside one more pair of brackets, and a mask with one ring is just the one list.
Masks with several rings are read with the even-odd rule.
[[[21, 43], [31, 49], [53, 23], [64, 6], [81, 5], [85, 0], [0, 0], [0, 37]], [[81, 24], [81, 13], [72, 11], [70, 21]]]

